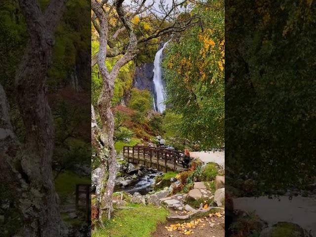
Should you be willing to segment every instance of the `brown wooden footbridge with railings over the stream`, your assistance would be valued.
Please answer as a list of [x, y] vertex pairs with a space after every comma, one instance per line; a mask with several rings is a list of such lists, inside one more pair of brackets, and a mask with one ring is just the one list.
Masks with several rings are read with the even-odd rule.
[[123, 157], [127, 158], [128, 162], [144, 164], [165, 172], [184, 169], [183, 152], [159, 147], [125, 146]]

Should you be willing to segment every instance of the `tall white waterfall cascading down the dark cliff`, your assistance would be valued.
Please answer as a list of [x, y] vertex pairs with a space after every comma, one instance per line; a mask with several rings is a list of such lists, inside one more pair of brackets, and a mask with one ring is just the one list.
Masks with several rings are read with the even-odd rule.
[[161, 75], [161, 61], [162, 61], [162, 51], [164, 47], [167, 45], [168, 42], [165, 42], [160, 48], [156, 55], [155, 55], [155, 60], [154, 60], [154, 85], [155, 85], [155, 90], [156, 90], [156, 102], [157, 102], [157, 110], [156, 106], [154, 105], [154, 108], [156, 111], [162, 113], [165, 109], [166, 106], [163, 104], [163, 101], [165, 100], [165, 92], [164, 92], [164, 84], [162, 81], [162, 75]]

